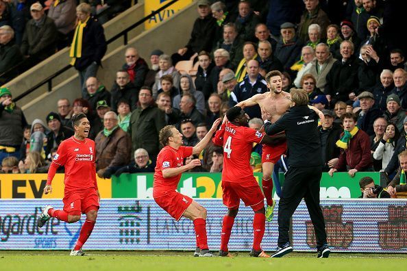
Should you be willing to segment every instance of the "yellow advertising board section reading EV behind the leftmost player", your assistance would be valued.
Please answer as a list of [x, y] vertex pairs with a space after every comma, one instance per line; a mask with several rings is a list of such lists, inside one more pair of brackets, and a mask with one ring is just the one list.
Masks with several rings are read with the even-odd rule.
[[[112, 181], [97, 178], [101, 198], [112, 198]], [[0, 198], [63, 198], [64, 174], [56, 174], [52, 194], [43, 193], [47, 174], [0, 174]]]

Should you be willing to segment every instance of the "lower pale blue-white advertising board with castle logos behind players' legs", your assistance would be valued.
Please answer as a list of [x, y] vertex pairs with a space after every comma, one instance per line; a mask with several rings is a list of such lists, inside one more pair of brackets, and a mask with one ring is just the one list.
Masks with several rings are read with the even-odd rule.
[[[220, 199], [198, 199], [208, 209], [208, 244], [219, 250], [221, 223], [227, 209]], [[82, 220], [68, 224], [51, 218], [38, 229], [42, 207], [62, 207], [60, 200], [0, 200], [0, 250], [69, 250]], [[328, 243], [334, 252], [406, 253], [407, 201], [324, 199]], [[275, 214], [278, 204], [275, 205]], [[293, 216], [291, 240], [296, 251], [315, 251], [314, 230], [306, 205]], [[249, 251], [253, 241], [253, 211], [240, 207], [230, 239], [230, 250]], [[277, 246], [277, 216], [267, 222], [262, 248]], [[153, 200], [103, 199], [95, 229], [85, 250], [194, 250], [193, 223], [176, 222]]]

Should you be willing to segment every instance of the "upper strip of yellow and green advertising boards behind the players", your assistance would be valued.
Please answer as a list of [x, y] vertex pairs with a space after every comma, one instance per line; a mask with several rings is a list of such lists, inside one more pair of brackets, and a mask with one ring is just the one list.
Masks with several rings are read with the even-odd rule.
[[[261, 183], [262, 173], [254, 173]], [[380, 172], [358, 172], [351, 178], [346, 172], [337, 172], [334, 177], [323, 173], [321, 179], [321, 198], [358, 198], [359, 180], [372, 177], [380, 184]], [[284, 174], [280, 174], [284, 181]], [[63, 198], [64, 175], [57, 174], [53, 179], [53, 193], [44, 195], [42, 190], [47, 183], [46, 174], [0, 174], [0, 198]], [[152, 198], [153, 173], [123, 174], [119, 178], [97, 178], [102, 198]], [[191, 198], [222, 198], [221, 173], [184, 173], [178, 191]], [[274, 197], [277, 195], [274, 192]]]

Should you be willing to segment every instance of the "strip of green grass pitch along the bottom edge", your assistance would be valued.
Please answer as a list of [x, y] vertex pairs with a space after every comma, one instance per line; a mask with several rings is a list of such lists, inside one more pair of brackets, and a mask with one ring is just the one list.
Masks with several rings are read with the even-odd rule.
[[249, 253], [232, 253], [233, 258], [199, 258], [192, 252], [169, 251], [88, 251], [84, 257], [70, 257], [69, 251], [0, 250], [0, 270], [407, 270], [404, 254], [331, 253], [317, 259], [317, 253], [291, 253], [280, 259], [251, 258]]

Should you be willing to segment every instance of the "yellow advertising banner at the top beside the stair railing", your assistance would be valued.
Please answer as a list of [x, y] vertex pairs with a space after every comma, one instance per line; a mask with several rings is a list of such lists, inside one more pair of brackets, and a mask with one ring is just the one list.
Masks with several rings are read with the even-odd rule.
[[[163, 5], [167, 4], [170, 0], [147, 0], [144, 3], [144, 16], [147, 16], [151, 14], [151, 12], [158, 10], [161, 8]], [[192, 0], [179, 0], [173, 5], [170, 5], [169, 8], [166, 8], [165, 10], [162, 10], [159, 14], [156, 14], [156, 16], [151, 16], [151, 18], [145, 22], [145, 29], [150, 29], [154, 26], [156, 26], [158, 23], [161, 23], [162, 21], [166, 20], [167, 18], [170, 18], [175, 14], [175, 12], [178, 12], [182, 8], [185, 8], [187, 5], [192, 3]]]

